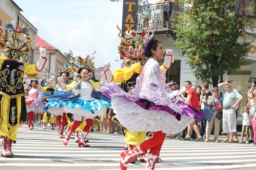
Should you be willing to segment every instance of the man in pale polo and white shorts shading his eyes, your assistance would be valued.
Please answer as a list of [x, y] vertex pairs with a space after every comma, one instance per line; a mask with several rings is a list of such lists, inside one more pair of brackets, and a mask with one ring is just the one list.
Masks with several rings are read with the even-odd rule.
[[[225, 87], [224, 87], [225, 85]], [[237, 132], [237, 120], [235, 106], [241, 103], [243, 97], [239, 94], [237, 90], [233, 90], [232, 86], [226, 80], [223, 83], [218, 84], [221, 88], [221, 92], [224, 95], [223, 99], [223, 133], [227, 134], [227, 138], [222, 142], [233, 143], [233, 134]], [[237, 100], [237, 101], [236, 101]], [[229, 136], [231, 134], [231, 136]]]

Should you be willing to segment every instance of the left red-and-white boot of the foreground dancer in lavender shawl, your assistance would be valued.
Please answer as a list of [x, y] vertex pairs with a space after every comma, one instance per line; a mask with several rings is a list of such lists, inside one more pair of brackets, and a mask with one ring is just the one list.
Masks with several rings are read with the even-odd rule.
[[121, 170], [126, 170], [129, 163], [133, 159], [144, 156], [146, 154], [147, 154], [147, 151], [144, 151], [142, 148], [140, 148], [140, 145], [129, 152], [128, 152], [128, 150], [124, 151], [123, 158], [120, 161]]

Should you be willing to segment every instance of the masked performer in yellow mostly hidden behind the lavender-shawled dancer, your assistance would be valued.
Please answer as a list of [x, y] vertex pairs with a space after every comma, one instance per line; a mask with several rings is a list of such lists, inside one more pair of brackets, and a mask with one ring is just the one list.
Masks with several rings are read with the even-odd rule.
[[[114, 81], [115, 83], [121, 83], [121, 88], [125, 92], [128, 92], [133, 89], [134, 85], [136, 84], [136, 78], [141, 73], [141, 70], [143, 69], [145, 64], [145, 62], [143, 62], [144, 56], [141, 44], [145, 38], [148, 38], [150, 36], [152, 37], [154, 35], [154, 32], [152, 31], [152, 34], [150, 35], [150, 33], [146, 30], [143, 30], [141, 34], [135, 34], [134, 30], [131, 30], [130, 32], [127, 31], [125, 34], [125, 38], [127, 39], [127, 42], [129, 44], [134, 43], [135, 47], [133, 48], [132, 46], [126, 47], [123, 45], [124, 38], [120, 36], [121, 30], [119, 28], [118, 30], [120, 31], [118, 37], [121, 39], [118, 51], [119, 54], [124, 58], [125, 67], [114, 70], [114, 74], [112, 75], [109, 69], [110, 64], [104, 63], [105, 71], [103, 73], [103, 77], [106, 80]], [[171, 67], [171, 64], [173, 62], [174, 55], [172, 53], [166, 54], [163, 65], [161, 65], [160, 68], [163, 70], [164, 73], [166, 73], [167, 69]], [[112, 120], [119, 124], [115, 115], [113, 116]], [[146, 132], [130, 132], [122, 124], [119, 125], [122, 126], [124, 129], [123, 132], [127, 145], [125, 149], [128, 149], [130, 151], [146, 140]], [[121, 153], [121, 156], [123, 156], [123, 153]], [[136, 161], [144, 162], [145, 160], [143, 158], [138, 158], [137, 160], [136, 158], [132, 160], [131, 163], [135, 163]]]

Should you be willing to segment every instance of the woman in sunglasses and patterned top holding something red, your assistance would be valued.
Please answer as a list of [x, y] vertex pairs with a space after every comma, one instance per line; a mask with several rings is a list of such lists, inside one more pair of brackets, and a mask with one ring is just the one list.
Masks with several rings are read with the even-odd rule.
[[[209, 96], [207, 100], [207, 104], [212, 107], [212, 117], [210, 122], [207, 121], [206, 123], [206, 137], [205, 142], [208, 142], [209, 137], [211, 137], [211, 128], [212, 124], [214, 122], [214, 142], [218, 142], [217, 137], [219, 136], [219, 128], [221, 124], [221, 120], [219, 118], [216, 118], [216, 113], [221, 112], [221, 109], [223, 109], [223, 100], [221, 97], [218, 96], [219, 90], [218, 87], [213, 87], [212, 89], [212, 96]], [[222, 113], [222, 112], [221, 112]]]

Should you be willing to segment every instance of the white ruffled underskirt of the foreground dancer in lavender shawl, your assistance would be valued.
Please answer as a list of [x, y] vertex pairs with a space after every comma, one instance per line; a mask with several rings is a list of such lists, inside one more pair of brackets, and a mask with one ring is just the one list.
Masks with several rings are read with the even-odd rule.
[[130, 132], [157, 132], [176, 134], [184, 130], [194, 121], [193, 117], [186, 115], [177, 120], [165, 111], [145, 110], [131, 100], [119, 96], [112, 96], [111, 106], [117, 120]]

